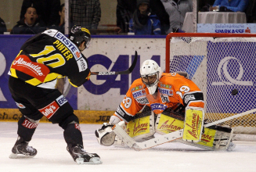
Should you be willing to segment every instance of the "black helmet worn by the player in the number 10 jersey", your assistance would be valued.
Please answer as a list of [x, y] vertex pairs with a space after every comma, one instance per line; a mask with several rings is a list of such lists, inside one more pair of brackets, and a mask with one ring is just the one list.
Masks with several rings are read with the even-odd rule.
[[91, 43], [90, 31], [80, 25], [74, 25], [74, 27], [71, 28], [69, 38], [74, 44], [78, 45], [78, 47], [83, 41], [85, 41], [85, 48], [88, 48]]

